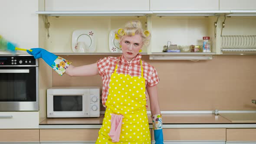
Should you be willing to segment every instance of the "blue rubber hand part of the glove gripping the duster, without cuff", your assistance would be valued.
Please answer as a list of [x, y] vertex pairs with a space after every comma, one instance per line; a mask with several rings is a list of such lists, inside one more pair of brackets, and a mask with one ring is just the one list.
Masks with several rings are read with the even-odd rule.
[[41, 48], [33, 48], [32, 52], [30, 52], [29, 50], [26, 50], [26, 52], [28, 52], [30, 55], [33, 55], [35, 59], [42, 58], [50, 66], [58, 57], [55, 54]]

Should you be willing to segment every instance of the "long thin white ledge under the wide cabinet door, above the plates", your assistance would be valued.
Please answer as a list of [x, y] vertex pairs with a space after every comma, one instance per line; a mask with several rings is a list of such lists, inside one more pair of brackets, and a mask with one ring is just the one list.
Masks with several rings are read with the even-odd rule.
[[46, 16], [146, 16], [152, 11], [36, 11]]

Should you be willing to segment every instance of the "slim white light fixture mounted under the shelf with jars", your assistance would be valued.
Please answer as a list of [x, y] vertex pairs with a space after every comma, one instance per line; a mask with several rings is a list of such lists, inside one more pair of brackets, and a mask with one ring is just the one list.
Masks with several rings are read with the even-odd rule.
[[177, 55], [150, 55], [151, 60], [209, 60], [213, 59], [212, 55], [202, 56], [177, 56]]

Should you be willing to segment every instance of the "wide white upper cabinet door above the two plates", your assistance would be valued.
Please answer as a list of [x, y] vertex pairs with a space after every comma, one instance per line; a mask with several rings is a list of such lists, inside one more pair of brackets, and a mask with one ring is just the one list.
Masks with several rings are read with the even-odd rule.
[[145, 11], [149, 0], [45, 0], [45, 11]]

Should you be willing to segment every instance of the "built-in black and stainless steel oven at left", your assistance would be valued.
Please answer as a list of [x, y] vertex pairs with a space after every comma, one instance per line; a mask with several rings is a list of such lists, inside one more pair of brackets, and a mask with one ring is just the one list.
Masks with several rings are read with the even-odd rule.
[[0, 55], [0, 111], [38, 111], [38, 60]]

